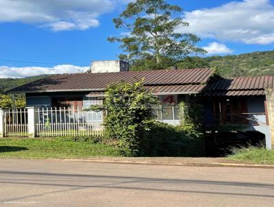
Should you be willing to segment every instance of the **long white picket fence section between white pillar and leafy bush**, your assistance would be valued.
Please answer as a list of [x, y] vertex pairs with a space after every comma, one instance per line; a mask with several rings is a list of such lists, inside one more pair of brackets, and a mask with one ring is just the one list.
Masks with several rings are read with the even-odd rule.
[[38, 108], [36, 136], [103, 136], [103, 113], [74, 108]]

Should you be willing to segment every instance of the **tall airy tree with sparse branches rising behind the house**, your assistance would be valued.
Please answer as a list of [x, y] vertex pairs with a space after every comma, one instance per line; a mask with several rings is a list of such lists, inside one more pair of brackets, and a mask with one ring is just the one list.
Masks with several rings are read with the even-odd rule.
[[121, 43], [121, 60], [129, 61], [134, 69], [165, 69], [174, 66], [190, 54], [206, 53], [196, 47], [195, 34], [176, 32], [187, 27], [179, 15], [182, 8], [164, 0], [137, 0], [114, 19], [117, 29], [126, 29], [128, 36], [108, 38]]

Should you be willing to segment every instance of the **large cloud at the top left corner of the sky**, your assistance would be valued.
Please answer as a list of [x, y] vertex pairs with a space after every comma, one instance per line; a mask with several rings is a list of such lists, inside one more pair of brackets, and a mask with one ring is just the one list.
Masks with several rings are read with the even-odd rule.
[[0, 0], [0, 23], [21, 22], [53, 31], [97, 27], [97, 18], [118, 0]]

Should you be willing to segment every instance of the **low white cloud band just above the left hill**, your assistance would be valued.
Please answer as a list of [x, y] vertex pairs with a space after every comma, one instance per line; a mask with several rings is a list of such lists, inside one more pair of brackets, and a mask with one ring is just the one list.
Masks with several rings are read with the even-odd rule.
[[27, 77], [34, 75], [42, 74], [62, 74], [62, 73], [80, 73], [87, 71], [88, 66], [74, 66], [70, 64], [60, 64], [57, 66], [49, 67], [38, 67], [38, 66], [29, 66], [29, 67], [9, 67], [9, 66], [0, 66], [0, 78], [6, 77]]

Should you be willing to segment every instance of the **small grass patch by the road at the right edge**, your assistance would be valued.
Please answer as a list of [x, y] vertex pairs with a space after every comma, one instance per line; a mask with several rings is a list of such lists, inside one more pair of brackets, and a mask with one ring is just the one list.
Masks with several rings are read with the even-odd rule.
[[228, 158], [231, 160], [256, 162], [258, 164], [274, 164], [274, 150], [263, 147], [236, 149], [234, 154]]

